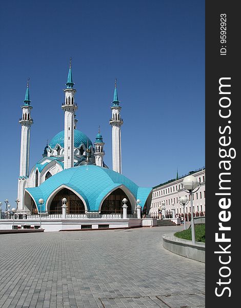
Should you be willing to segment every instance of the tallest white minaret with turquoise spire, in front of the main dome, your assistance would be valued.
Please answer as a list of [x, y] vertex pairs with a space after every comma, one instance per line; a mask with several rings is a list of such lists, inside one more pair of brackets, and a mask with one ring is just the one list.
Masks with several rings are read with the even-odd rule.
[[75, 128], [75, 111], [77, 105], [74, 102], [74, 94], [76, 90], [73, 88], [73, 78], [71, 71], [71, 59], [69, 65], [69, 74], [67, 80], [67, 88], [65, 91], [65, 103], [62, 109], [65, 111], [65, 149], [64, 149], [64, 168], [72, 168], [74, 166], [74, 128]]

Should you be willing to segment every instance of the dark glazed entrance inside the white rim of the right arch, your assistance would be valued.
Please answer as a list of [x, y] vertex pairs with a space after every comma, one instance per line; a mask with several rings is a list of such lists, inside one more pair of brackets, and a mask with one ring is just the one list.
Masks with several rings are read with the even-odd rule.
[[115, 189], [114, 191], [111, 192], [109, 196], [106, 197], [101, 207], [101, 214], [123, 213], [122, 200], [124, 198], [128, 200], [126, 203], [126, 205], [128, 206], [127, 213], [131, 214], [130, 200], [121, 188]]

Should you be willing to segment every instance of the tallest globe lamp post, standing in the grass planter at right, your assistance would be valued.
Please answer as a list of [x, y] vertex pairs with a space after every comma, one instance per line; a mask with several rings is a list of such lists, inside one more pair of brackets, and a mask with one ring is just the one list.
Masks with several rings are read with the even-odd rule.
[[187, 176], [184, 178], [181, 183], [184, 191], [190, 194], [191, 200], [191, 228], [192, 228], [192, 243], [195, 244], [195, 226], [193, 220], [193, 205], [192, 205], [192, 194], [200, 188], [200, 183], [197, 182], [197, 179], [193, 176]]

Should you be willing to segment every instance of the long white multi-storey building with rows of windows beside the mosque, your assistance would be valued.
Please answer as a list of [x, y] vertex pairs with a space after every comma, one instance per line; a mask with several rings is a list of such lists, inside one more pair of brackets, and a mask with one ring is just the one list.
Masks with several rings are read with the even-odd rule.
[[[205, 168], [190, 171], [189, 174], [182, 177], [176, 176], [176, 179], [169, 180], [165, 183], [153, 187], [151, 208], [149, 214], [151, 217], [158, 217], [158, 210], [165, 209], [166, 218], [169, 218], [172, 209], [175, 208], [175, 216], [184, 216], [184, 207], [180, 205], [179, 197], [186, 196], [190, 200], [190, 195], [182, 189], [181, 183], [188, 176], [194, 176], [200, 182], [200, 188], [192, 195], [193, 199], [193, 216], [205, 216]], [[188, 196], [189, 195], [189, 196]], [[190, 201], [185, 205], [186, 220], [191, 220], [191, 204]]]

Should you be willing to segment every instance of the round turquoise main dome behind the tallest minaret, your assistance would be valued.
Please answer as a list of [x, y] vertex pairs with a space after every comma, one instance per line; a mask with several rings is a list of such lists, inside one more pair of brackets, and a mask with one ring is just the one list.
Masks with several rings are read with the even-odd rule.
[[[87, 140], [88, 140], [89, 147], [93, 145], [89, 137], [87, 137], [86, 134], [84, 134], [84, 132], [74, 129], [74, 147], [75, 148], [78, 148], [82, 144], [84, 144], [85, 147], [87, 148]], [[52, 140], [49, 143], [49, 146], [53, 149], [55, 148], [56, 144], [59, 144], [61, 147], [64, 147], [65, 145], [65, 131], [64, 130], [58, 132], [52, 138]]]

